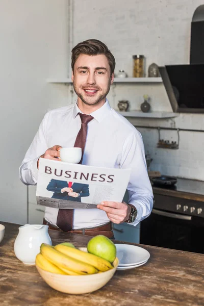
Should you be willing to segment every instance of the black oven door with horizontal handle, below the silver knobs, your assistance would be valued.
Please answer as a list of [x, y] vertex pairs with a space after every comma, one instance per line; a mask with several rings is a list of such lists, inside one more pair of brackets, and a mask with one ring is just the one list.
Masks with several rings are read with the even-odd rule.
[[140, 224], [140, 243], [204, 253], [204, 219], [152, 209]]

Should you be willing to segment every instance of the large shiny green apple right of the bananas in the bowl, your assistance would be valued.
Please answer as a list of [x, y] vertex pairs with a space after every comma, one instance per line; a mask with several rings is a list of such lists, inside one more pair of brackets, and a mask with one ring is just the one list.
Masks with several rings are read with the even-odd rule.
[[115, 244], [104, 235], [97, 235], [91, 238], [87, 244], [87, 250], [89, 253], [104, 258], [110, 263], [116, 258]]

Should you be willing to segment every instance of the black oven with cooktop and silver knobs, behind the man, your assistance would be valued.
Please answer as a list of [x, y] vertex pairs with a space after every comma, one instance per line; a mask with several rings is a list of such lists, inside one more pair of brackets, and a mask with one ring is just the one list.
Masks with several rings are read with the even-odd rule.
[[177, 179], [154, 187], [151, 215], [140, 224], [140, 243], [204, 253], [204, 182]]

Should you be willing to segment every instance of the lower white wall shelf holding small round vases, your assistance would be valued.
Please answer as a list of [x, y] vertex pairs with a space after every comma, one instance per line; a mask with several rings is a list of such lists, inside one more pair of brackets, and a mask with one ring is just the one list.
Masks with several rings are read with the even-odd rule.
[[120, 115], [124, 117], [143, 117], [143, 118], [173, 118], [179, 116], [179, 113], [171, 113], [171, 112], [149, 112], [143, 113], [140, 111], [132, 111], [132, 112], [120, 112], [116, 110]]

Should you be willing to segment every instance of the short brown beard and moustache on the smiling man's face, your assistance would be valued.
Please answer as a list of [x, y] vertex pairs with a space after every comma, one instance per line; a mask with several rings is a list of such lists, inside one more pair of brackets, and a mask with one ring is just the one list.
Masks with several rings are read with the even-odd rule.
[[[109, 82], [108, 82], [108, 86], [107, 88], [105, 89], [104, 92], [102, 92], [101, 94], [99, 94], [99, 96], [97, 97], [86, 97], [85, 95], [83, 95], [80, 91], [79, 91], [79, 87], [77, 86], [77, 84], [73, 81], [73, 89], [75, 91], [75, 93], [78, 95], [78, 97], [83, 101], [84, 104], [87, 104], [87, 105], [96, 105], [97, 103], [99, 103], [101, 100], [103, 100], [104, 98], [106, 98], [107, 94], [109, 93], [110, 91], [110, 87], [111, 87], [111, 79], [109, 79]], [[88, 84], [86, 85], [81, 85], [80, 88], [83, 90], [83, 89], [86, 89], [86, 88], [89, 88], [89, 89], [96, 89], [96, 90], [101, 90], [101, 88], [97, 85], [94, 85], [94, 86], [90, 86]]]

